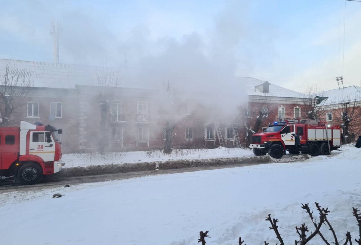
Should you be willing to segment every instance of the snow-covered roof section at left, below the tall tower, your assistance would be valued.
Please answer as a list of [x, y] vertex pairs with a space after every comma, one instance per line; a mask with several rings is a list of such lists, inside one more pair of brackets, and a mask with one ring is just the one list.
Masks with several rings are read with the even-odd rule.
[[6, 66], [33, 79], [35, 87], [74, 88], [75, 84], [93, 84], [96, 79], [94, 66], [0, 59], [0, 73]]

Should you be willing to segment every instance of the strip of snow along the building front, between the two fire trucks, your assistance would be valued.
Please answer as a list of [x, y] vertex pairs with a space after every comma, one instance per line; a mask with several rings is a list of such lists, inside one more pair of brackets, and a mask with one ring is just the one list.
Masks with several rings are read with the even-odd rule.
[[98, 153], [64, 154], [62, 156], [62, 161], [65, 162], [65, 168], [71, 168], [78, 166], [122, 164], [131, 162], [253, 156], [251, 149], [225, 147], [219, 147], [216, 149], [174, 150], [171, 155], [163, 154], [161, 151], [152, 151], [149, 153], [147, 154], [147, 151], [129, 151], [108, 153], [105, 156]]

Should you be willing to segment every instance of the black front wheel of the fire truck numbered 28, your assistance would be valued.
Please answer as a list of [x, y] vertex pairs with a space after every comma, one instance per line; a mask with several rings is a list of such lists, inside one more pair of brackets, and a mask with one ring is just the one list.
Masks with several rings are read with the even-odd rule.
[[23, 185], [36, 184], [43, 178], [42, 167], [34, 162], [22, 164], [18, 169], [18, 180]]

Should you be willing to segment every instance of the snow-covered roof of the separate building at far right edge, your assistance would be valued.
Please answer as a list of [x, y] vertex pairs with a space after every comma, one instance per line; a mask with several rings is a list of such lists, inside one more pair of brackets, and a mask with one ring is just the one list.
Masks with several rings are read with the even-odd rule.
[[361, 87], [349, 86], [344, 89], [328, 90], [322, 97], [329, 97], [325, 104], [340, 104], [346, 101], [361, 101]]

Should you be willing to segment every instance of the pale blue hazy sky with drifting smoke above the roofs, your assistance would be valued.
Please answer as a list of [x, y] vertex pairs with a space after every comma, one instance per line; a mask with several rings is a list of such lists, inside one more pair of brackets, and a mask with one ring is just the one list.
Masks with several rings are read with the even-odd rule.
[[[121, 67], [128, 80], [219, 86], [251, 76], [303, 92], [361, 85], [361, 2], [0, 0], [0, 58]], [[214, 89], [214, 88], [212, 88]]]

